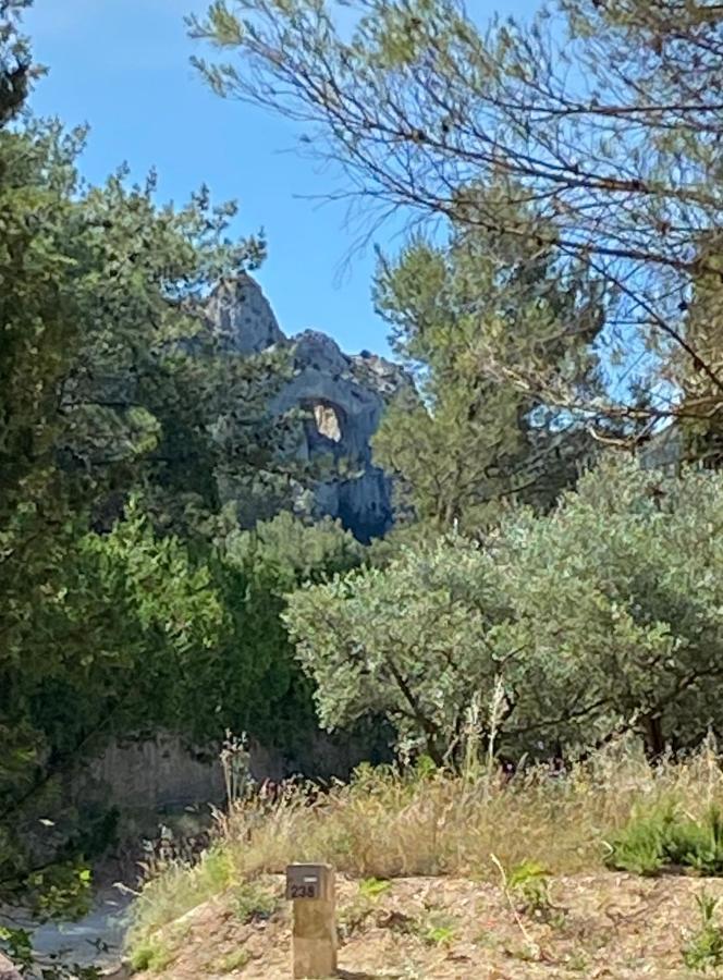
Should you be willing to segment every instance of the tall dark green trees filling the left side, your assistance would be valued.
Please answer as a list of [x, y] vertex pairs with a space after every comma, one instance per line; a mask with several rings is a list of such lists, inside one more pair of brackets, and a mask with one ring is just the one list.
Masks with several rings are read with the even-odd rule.
[[211, 731], [196, 675], [236, 665], [221, 491], [278, 506], [291, 464], [282, 358], [221, 353], [203, 319], [264, 240], [232, 241], [206, 188], [175, 208], [154, 174], [83, 182], [85, 132], [20, 114], [26, 5], [0, 0], [0, 904], [47, 916], [82, 909], [112, 835], [68, 792], [87, 754]]

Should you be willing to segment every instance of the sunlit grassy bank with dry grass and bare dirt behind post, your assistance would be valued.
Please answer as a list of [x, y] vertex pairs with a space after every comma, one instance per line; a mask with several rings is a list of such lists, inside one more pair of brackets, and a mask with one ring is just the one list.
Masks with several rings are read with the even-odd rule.
[[655, 768], [616, 750], [508, 783], [362, 770], [322, 798], [249, 798], [198, 866], [148, 881], [128, 967], [291, 976], [283, 870], [324, 860], [347, 980], [720, 976], [722, 798], [710, 749]]

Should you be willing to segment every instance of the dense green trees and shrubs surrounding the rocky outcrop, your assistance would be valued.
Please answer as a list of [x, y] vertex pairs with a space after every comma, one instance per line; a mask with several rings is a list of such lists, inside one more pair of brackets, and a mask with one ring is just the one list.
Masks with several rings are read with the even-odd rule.
[[720, 7], [188, 21], [199, 84], [308, 127], [372, 228], [409, 216], [370, 285], [416, 387], [365, 546], [292, 512], [284, 352], [204, 329], [264, 237], [207, 188], [84, 181], [86, 133], [29, 108], [27, 5], [0, 0], [0, 904], [82, 907], [111, 831], [66, 788], [118, 736], [367, 725], [454, 768], [470, 725], [515, 761], [723, 735]]

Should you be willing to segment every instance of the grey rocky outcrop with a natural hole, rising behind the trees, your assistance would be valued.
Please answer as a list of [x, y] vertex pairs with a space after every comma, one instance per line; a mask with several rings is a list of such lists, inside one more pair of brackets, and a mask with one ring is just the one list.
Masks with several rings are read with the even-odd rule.
[[207, 315], [225, 350], [252, 354], [274, 345], [291, 348], [293, 378], [272, 411], [307, 409], [299, 458], [330, 456], [344, 470], [317, 485], [316, 507], [339, 518], [360, 541], [383, 535], [393, 520], [392, 482], [372, 465], [370, 440], [387, 403], [412, 383], [404, 370], [367, 351], [348, 356], [316, 330], [287, 339], [260, 286], [246, 274], [219, 286]]

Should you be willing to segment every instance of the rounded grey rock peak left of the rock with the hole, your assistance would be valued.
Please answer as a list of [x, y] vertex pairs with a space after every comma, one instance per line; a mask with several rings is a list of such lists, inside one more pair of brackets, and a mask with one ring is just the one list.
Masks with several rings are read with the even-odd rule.
[[258, 354], [286, 341], [261, 286], [246, 272], [219, 283], [208, 298], [206, 316], [226, 351]]

